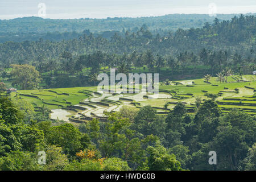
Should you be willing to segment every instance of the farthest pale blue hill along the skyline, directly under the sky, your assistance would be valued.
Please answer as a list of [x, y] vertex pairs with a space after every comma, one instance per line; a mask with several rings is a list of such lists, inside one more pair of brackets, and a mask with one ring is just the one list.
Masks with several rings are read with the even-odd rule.
[[[220, 20], [229, 20], [238, 14], [217, 14]], [[245, 14], [256, 15], [256, 14]], [[178, 28], [199, 28], [205, 22], [213, 22], [214, 16], [207, 14], [170, 14], [142, 18], [106, 18], [106, 19], [43, 19], [39, 17], [24, 17], [10, 20], [0, 20], [0, 32], [90, 32], [102, 31], [137, 31], [145, 24], [149, 30], [177, 30]]]

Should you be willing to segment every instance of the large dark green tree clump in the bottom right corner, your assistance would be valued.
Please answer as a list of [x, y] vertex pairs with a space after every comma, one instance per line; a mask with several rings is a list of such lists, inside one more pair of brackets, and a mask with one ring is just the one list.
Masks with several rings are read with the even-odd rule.
[[[204, 143], [199, 151], [192, 154], [192, 169], [238, 170], [240, 163], [241, 168], [245, 169], [246, 153], [255, 141], [255, 131], [253, 117], [238, 110], [232, 110], [220, 118], [204, 119], [199, 130], [199, 139]], [[217, 153], [216, 166], [204, 163], [209, 159], [209, 151]]]

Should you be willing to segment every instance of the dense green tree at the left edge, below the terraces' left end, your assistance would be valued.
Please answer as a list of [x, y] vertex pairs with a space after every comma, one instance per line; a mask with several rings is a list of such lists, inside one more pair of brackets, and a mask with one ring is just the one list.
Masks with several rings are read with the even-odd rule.
[[43, 146], [44, 134], [24, 124], [23, 114], [7, 97], [0, 98], [0, 154], [10, 150], [34, 152]]

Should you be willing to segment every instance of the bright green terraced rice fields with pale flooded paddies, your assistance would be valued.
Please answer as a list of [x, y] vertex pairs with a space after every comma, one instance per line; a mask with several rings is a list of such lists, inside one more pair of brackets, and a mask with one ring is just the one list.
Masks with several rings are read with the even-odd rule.
[[[35, 111], [43, 105], [51, 109], [51, 119], [67, 122], [86, 122], [92, 118], [104, 120], [105, 112], [119, 111], [122, 106], [142, 107], [151, 105], [159, 114], [168, 114], [181, 101], [190, 113], [195, 112], [196, 97], [209, 99], [207, 94], [217, 94], [217, 104], [223, 112], [238, 108], [246, 113], [256, 113], [256, 76], [228, 77], [228, 82], [220, 83], [216, 77], [209, 82], [203, 79], [173, 81], [170, 85], [160, 85], [159, 94], [144, 93], [102, 93], [97, 87], [60, 88], [46, 90], [19, 90], [12, 97], [31, 102]], [[168, 103], [167, 108], [164, 105]]]

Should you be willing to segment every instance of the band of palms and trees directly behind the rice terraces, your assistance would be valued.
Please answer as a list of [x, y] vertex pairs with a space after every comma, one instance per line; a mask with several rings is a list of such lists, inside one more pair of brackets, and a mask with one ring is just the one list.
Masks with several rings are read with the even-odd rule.
[[[171, 55], [160, 56], [151, 51], [145, 51], [126, 55], [106, 54], [97, 51], [92, 54], [72, 56], [70, 52], [64, 51], [56, 59], [44, 59], [38, 57], [33, 61], [38, 76], [42, 78], [39, 82], [39, 88], [68, 88], [75, 86], [96, 86], [98, 73], [105, 72], [110, 74], [109, 68], [117, 68], [119, 73], [159, 73], [159, 81], [182, 80], [184, 78], [201, 78], [210, 74], [215, 76], [224, 68], [232, 69], [237, 75], [246, 75], [253, 73], [255, 69], [255, 56], [251, 51], [248, 56], [234, 55], [228, 51], [210, 51], [201, 49], [197, 54], [193, 52], [180, 52], [172, 57]], [[26, 62], [20, 60], [17, 64], [11, 64], [6, 68], [26, 68]], [[31, 69], [31, 73], [34, 73]], [[21, 75], [26, 76], [26, 69], [17, 74], [14, 69], [2, 68], [1, 76], [3, 80], [11, 81], [12, 86], [20, 89], [28, 89], [22, 86], [24, 80]], [[38, 88], [33, 86], [29, 89]]]

